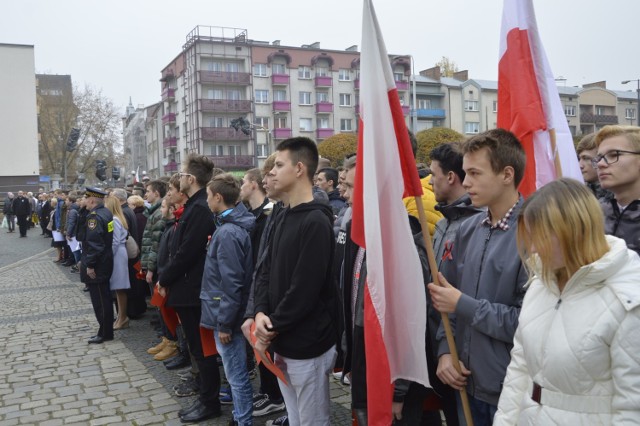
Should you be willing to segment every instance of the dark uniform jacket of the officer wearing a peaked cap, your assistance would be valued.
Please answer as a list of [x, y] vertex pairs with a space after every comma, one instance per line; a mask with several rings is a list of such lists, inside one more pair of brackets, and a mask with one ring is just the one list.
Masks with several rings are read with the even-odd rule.
[[[80, 233], [79, 233], [80, 234]], [[113, 272], [113, 215], [104, 205], [87, 214], [85, 235], [82, 240], [82, 270], [80, 278], [85, 284], [109, 282]], [[93, 268], [96, 278], [87, 275]]]

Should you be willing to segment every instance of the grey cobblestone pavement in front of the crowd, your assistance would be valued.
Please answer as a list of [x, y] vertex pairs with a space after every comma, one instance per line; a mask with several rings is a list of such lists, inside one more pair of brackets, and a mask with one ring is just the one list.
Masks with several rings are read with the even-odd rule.
[[[178, 425], [174, 372], [146, 350], [150, 316], [88, 345], [96, 320], [78, 274], [54, 264], [51, 239], [0, 230], [0, 425]], [[332, 424], [350, 425], [349, 389], [331, 379]], [[254, 386], [257, 386], [254, 383]], [[256, 425], [281, 415], [254, 418]], [[226, 425], [231, 406], [205, 425]]]

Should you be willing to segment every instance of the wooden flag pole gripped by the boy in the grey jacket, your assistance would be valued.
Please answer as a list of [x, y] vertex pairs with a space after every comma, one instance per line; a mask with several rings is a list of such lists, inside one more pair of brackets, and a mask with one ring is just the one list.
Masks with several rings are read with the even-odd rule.
[[[424, 238], [424, 245], [427, 247], [427, 259], [429, 261], [429, 269], [431, 270], [431, 276], [433, 283], [440, 286], [440, 280], [438, 279], [438, 265], [436, 263], [436, 256], [433, 253], [433, 243], [431, 242], [431, 234], [429, 233], [429, 227], [427, 226], [427, 215], [424, 212], [424, 205], [422, 204], [422, 196], [416, 196], [416, 207], [418, 208], [418, 219], [420, 219], [420, 227], [422, 228], [422, 237]], [[441, 312], [442, 324], [444, 325], [444, 332], [447, 336], [447, 344], [449, 345], [449, 351], [451, 358], [453, 358], [453, 366], [458, 374], [462, 374], [460, 368], [460, 358], [458, 358], [458, 349], [456, 348], [456, 342], [453, 338], [453, 331], [451, 330], [451, 322], [449, 321], [449, 315]], [[460, 400], [462, 401], [462, 410], [464, 411], [464, 418], [467, 422], [467, 426], [473, 426], [473, 419], [471, 418], [471, 407], [469, 405], [469, 397], [465, 388], [460, 389]]]

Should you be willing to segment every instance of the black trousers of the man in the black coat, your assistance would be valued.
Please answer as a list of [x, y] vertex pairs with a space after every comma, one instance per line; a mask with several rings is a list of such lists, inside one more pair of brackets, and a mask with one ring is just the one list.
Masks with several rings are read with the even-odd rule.
[[200, 371], [200, 402], [207, 407], [220, 408], [220, 370], [215, 356], [205, 357], [200, 339], [200, 306], [175, 307], [182, 330], [187, 338], [189, 351]]

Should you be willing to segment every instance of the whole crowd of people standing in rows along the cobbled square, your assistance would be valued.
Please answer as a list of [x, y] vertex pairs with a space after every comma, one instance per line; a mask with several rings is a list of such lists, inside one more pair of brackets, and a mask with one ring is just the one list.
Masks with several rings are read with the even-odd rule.
[[[459, 391], [475, 425], [640, 423], [640, 128], [606, 126], [578, 145], [578, 158], [588, 186], [559, 179], [525, 200], [526, 156], [510, 132], [431, 152], [423, 201], [439, 286], [415, 206], [405, 204], [423, 261], [432, 388], [394, 383], [394, 424], [464, 424]], [[69, 257], [81, 260], [100, 325], [89, 342], [113, 339], [131, 304], [157, 292], [180, 326], [160, 316], [162, 340], [149, 353], [169, 368], [191, 363], [175, 391], [198, 394], [183, 422], [233, 404], [230, 424], [286, 409], [268, 424], [328, 425], [329, 377], [340, 368], [354, 418], [369, 423], [367, 258], [350, 237], [356, 158], [340, 169], [319, 160], [315, 142], [296, 137], [242, 181], [192, 154], [180, 173], [147, 182], [145, 201], [122, 189], [67, 197], [66, 237], [82, 241], [81, 259]], [[139, 257], [127, 255], [128, 238]], [[203, 350], [210, 338], [228, 389], [218, 358]], [[251, 349], [270, 354], [287, 384], [261, 363], [254, 394]]]

